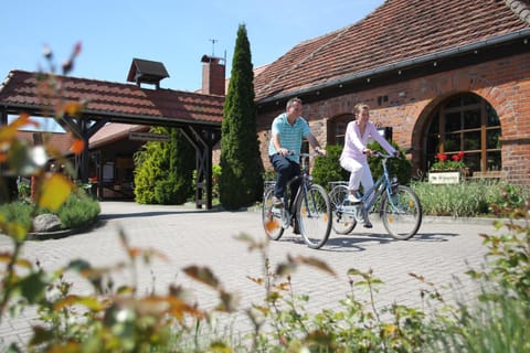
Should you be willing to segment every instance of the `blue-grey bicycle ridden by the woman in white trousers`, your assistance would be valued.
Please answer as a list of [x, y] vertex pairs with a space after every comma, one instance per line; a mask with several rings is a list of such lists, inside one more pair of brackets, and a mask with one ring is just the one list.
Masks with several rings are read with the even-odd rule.
[[398, 178], [389, 175], [386, 161], [393, 156], [374, 153], [381, 157], [383, 174], [363, 195], [360, 203], [349, 205], [347, 182], [331, 182], [329, 199], [332, 207], [332, 227], [337, 234], [349, 234], [368, 218], [368, 214], [379, 201], [379, 215], [386, 232], [395, 239], [406, 240], [414, 236], [422, 224], [422, 205], [414, 191], [398, 183]]

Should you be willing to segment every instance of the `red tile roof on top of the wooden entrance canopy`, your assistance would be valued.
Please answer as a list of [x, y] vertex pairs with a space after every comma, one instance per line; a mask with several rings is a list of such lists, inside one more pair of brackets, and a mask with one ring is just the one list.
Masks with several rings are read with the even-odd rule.
[[[57, 76], [62, 96], [68, 100], [87, 100], [85, 114], [94, 118], [113, 117], [135, 124], [146, 118], [170, 122], [220, 126], [224, 97], [172, 89], [146, 89], [130, 84]], [[0, 85], [0, 103], [10, 107], [39, 109], [42, 103], [36, 73], [12, 71]], [[155, 125], [155, 124], [152, 124]]]

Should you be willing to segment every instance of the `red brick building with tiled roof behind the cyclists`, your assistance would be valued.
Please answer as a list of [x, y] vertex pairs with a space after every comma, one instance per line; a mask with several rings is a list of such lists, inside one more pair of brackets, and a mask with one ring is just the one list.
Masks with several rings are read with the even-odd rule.
[[416, 172], [464, 151], [474, 176], [530, 185], [529, 42], [528, 0], [386, 0], [256, 75], [265, 167], [271, 122], [297, 96], [326, 145], [342, 143], [362, 101]]

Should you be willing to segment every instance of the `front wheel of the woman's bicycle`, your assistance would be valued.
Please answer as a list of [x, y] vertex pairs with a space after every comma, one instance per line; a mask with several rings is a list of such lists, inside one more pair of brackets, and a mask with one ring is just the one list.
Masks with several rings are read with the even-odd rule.
[[386, 232], [399, 240], [411, 238], [422, 224], [422, 205], [409, 186], [398, 185], [390, 199], [384, 193], [380, 214]]

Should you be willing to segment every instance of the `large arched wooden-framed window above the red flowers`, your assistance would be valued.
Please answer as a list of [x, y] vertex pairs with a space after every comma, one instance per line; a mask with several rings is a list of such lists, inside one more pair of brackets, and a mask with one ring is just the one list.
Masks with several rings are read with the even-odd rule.
[[499, 137], [500, 122], [495, 109], [475, 94], [453, 96], [444, 101], [431, 117], [427, 129], [427, 170], [436, 153], [464, 152], [470, 171], [501, 170]]

